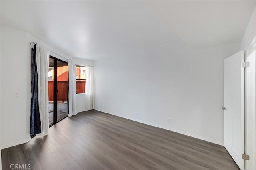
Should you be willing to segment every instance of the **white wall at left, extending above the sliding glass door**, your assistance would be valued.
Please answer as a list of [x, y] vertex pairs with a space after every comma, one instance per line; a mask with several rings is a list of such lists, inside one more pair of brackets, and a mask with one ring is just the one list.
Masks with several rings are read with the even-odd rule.
[[[71, 58], [41, 38], [1, 25], [1, 149], [30, 140], [31, 45], [37, 42], [50, 49], [50, 55]], [[57, 55], [57, 54], [58, 55]], [[77, 64], [93, 63], [78, 60]], [[19, 97], [15, 97], [19, 93]], [[79, 105], [79, 104], [78, 104]]]

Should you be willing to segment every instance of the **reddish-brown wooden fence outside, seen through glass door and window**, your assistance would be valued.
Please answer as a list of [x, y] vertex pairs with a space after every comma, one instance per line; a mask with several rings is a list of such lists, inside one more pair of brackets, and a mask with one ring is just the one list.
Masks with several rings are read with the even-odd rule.
[[[57, 101], [67, 101], [68, 81], [57, 81]], [[53, 101], [53, 81], [48, 81], [49, 101]], [[85, 80], [76, 81], [76, 94], [85, 93]]]

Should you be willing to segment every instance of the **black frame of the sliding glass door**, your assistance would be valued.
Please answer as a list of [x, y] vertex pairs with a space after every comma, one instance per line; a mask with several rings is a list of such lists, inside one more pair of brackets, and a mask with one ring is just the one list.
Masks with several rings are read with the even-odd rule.
[[[50, 55], [49, 58], [52, 58], [52, 59], [53, 59], [53, 76], [54, 76], [54, 77], [57, 77], [57, 60], [58, 60], [58, 61], [61, 61], [61, 62], [64, 62], [64, 63], [66, 63], [66, 64], [68, 64], [68, 62], [63, 61], [63, 60], [61, 60], [61, 59], [58, 59], [58, 58], [56, 58], [56, 57], [53, 57], [52, 55]], [[53, 123], [52, 123], [51, 125], [49, 125], [49, 127], [55, 125], [56, 123], [62, 121], [62, 120], [65, 119], [66, 117], [68, 117], [68, 109], [67, 109], [67, 115], [66, 115], [66, 117], [64, 117], [64, 118], [62, 118], [62, 119], [60, 119], [60, 120], [57, 120], [57, 104], [58, 104], [58, 101], [57, 101], [57, 93], [58, 93], [58, 91], [57, 91], [57, 90], [58, 90], [58, 89], [57, 89], [57, 82], [58, 82], [57, 79], [54, 78], [54, 79], [53, 79]], [[68, 92], [67, 92], [67, 93], [68, 93]], [[68, 94], [67, 94], [67, 96], [68, 96]], [[67, 100], [67, 102], [68, 102], [68, 100]], [[68, 105], [68, 103], [67, 103], [67, 105]]]

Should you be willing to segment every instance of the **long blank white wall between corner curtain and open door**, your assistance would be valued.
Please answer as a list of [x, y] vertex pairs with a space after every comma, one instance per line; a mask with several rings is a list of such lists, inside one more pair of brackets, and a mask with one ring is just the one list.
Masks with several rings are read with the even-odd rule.
[[223, 145], [224, 59], [239, 50], [174, 40], [96, 60], [95, 108]]

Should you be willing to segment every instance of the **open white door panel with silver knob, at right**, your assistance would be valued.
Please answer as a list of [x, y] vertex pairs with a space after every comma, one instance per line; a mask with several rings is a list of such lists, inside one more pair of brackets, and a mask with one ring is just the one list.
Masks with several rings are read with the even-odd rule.
[[244, 169], [244, 51], [224, 60], [224, 146]]

